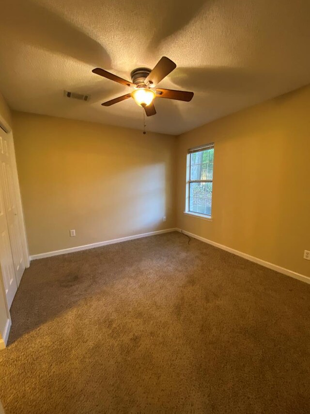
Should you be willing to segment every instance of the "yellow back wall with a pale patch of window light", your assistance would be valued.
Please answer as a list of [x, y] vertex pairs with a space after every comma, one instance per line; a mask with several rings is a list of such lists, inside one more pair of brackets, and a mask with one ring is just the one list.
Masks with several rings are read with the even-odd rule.
[[13, 122], [30, 254], [175, 227], [175, 137], [18, 112]]

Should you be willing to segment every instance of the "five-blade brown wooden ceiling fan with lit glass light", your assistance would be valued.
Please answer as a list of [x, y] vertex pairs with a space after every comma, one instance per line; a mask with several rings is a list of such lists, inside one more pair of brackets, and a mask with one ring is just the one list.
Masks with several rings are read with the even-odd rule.
[[155, 88], [157, 83], [162, 81], [175, 68], [176, 64], [168, 59], [168, 57], [163, 56], [153, 70], [148, 69], [147, 67], [138, 67], [137, 69], [134, 69], [130, 74], [132, 82], [129, 82], [107, 70], [96, 67], [93, 69], [93, 73], [134, 89], [134, 91], [129, 94], [108, 100], [101, 105], [110, 106], [114, 105], [114, 103], [121, 102], [122, 100], [133, 98], [138, 105], [144, 108], [147, 116], [152, 116], [156, 114], [153, 102], [155, 98], [176, 99], [189, 102], [194, 96], [193, 92]]

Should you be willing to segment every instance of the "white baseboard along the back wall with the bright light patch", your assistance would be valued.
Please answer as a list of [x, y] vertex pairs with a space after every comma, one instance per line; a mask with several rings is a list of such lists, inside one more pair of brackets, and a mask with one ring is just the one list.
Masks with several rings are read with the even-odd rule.
[[175, 228], [174, 229], [158, 230], [156, 232], [135, 234], [133, 236], [121, 237], [119, 239], [106, 240], [104, 242], [92, 243], [92, 244], [84, 245], [84, 246], [63, 248], [62, 250], [47, 251], [46, 253], [39, 253], [39, 254], [31, 255], [30, 260], [43, 259], [44, 257], [58, 256], [60, 254], [73, 253], [75, 251], [87, 250], [89, 248], [107, 246], [107, 245], [114, 244], [114, 243], [126, 242], [128, 240], [140, 239], [141, 237], [154, 236], [155, 234], [170, 233], [170, 232], [176, 232], [176, 231], [178, 231], [178, 229], [175, 229]]

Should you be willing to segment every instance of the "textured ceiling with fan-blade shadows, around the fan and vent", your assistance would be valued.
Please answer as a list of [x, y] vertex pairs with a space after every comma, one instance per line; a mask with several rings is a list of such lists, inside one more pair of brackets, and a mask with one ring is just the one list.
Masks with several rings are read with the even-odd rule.
[[[310, 83], [309, 0], [2, 0], [0, 91], [12, 109], [142, 128], [130, 80], [168, 56], [159, 85], [195, 93], [155, 99], [149, 131], [179, 134]], [[91, 95], [68, 99], [63, 90]]]

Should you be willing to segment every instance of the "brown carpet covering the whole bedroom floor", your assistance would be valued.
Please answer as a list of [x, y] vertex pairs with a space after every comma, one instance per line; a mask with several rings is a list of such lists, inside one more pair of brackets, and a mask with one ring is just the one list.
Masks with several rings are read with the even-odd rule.
[[180, 233], [36, 260], [10, 413], [309, 413], [310, 285]]

